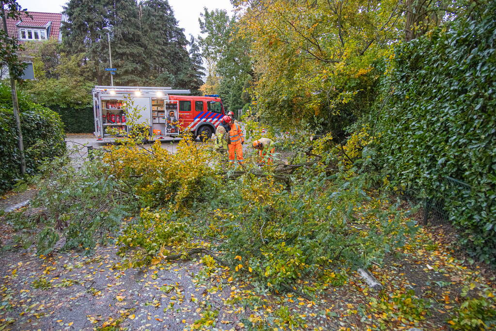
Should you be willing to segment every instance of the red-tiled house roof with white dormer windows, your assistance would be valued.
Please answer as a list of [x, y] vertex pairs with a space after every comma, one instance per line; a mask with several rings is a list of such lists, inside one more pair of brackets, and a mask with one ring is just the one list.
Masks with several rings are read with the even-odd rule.
[[62, 19], [61, 13], [24, 12], [21, 19], [7, 18], [7, 32], [10, 37], [17, 37], [20, 44], [50, 38], [62, 41]]

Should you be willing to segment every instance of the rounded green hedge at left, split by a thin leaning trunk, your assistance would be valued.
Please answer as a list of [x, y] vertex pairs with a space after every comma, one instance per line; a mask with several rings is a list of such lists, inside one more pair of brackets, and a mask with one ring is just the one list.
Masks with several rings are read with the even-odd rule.
[[[10, 189], [21, 178], [14, 114], [5, 106], [0, 105], [0, 191]], [[27, 104], [23, 106], [27, 108]], [[63, 125], [58, 113], [36, 104], [30, 104], [20, 117], [26, 172], [33, 174], [43, 159], [65, 152]]]

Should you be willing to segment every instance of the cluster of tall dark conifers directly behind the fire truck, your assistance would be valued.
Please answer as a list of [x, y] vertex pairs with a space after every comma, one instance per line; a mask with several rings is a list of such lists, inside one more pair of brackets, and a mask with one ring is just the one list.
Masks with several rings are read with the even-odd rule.
[[[201, 56], [188, 42], [167, 0], [69, 0], [64, 7], [63, 45], [95, 63], [98, 84], [108, 84], [110, 27], [115, 85], [171, 86], [195, 93], [201, 82]], [[192, 48], [191, 57], [187, 46]]]

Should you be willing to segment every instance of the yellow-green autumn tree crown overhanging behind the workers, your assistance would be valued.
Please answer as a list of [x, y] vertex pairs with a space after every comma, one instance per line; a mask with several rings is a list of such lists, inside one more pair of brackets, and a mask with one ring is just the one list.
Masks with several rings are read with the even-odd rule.
[[376, 65], [400, 38], [402, 8], [387, 1], [236, 1], [250, 41], [251, 89], [262, 122], [312, 131], [345, 128], [368, 107], [382, 72]]

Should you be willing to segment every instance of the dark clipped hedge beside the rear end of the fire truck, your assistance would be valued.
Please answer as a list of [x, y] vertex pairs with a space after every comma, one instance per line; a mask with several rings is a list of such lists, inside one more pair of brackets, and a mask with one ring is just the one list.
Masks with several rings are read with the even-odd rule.
[[77, 109], [50, 106], [50, 109], [61, 115], [65, 132], [93, 133], [95, 131], [93, 107], [91, 106]]

